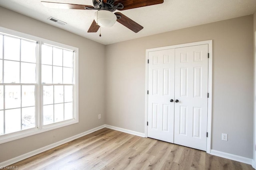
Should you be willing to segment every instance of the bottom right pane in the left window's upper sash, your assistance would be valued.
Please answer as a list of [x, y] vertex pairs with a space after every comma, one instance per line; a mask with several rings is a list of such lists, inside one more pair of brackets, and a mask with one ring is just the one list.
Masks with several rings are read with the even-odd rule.
[[21, 63], [21, 83], [36, 82], [36, 64]]

